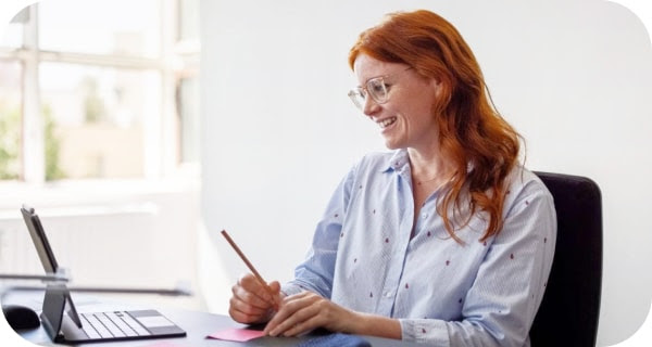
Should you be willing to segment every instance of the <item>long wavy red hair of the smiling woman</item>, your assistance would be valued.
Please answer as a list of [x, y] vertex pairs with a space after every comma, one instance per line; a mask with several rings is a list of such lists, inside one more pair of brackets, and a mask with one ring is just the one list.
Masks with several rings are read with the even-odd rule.
[[352, 69], [360, 54], [410, 65], [441, 82], [432, 116], [439, 145], [453, 160], [455, 174], [437, 213], [459, 243], [455, 227], [466, 226], [477, 211], [488, 216], [480, 241], [497, 234], [503, 226], [505, 179], [518, 163], [522, 138], [493, 106], [480, 67], [460, 33], [426, 10], [391, 13], [360, 35], [349, 53]]

